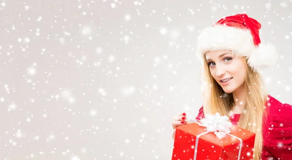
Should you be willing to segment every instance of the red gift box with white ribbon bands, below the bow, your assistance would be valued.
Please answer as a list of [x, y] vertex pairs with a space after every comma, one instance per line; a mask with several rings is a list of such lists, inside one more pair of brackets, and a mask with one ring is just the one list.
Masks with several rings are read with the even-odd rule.
[[256, 134], [235, 125], [229, 129], [219, 139], [198, 123], [177, 127], [171, 160], [253, 160]]

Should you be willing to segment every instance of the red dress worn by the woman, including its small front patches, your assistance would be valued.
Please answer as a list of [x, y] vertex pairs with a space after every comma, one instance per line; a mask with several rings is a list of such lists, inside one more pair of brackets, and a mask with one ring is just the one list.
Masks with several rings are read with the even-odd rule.
[[[292, 105], [283, 104], [268, 95], [268, 116], [262, 125], [262, 160], [292, 160]], [[197, 120], [204, 118], [203, 107]], [[240, 114], [230, 116], [232, 124], [237, 125]]]

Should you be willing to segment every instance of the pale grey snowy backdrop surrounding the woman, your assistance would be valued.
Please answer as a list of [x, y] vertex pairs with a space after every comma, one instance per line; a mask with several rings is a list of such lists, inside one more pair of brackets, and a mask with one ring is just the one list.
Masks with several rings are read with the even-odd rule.
[[[270, 1], [270, 0], [269, 0]], [[247, 13], [292, 104], [292, 0], [0, 1], [0, 160], [170, 160], [173, 116], [202, 105], [196, 37]]]

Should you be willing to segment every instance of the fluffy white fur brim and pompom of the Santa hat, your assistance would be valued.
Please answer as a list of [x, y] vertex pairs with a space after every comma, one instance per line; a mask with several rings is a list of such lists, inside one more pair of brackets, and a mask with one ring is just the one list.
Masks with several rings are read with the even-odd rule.
[[247, 57], [248, 64], [257, 72], [274, 65], [278, 54], [273, 45], [255, 46], [250, 30], [225, 25], [205, 28], [197, 38], [197, 57], [202, 60], [207, 51], [232, 50], [239, 57]]

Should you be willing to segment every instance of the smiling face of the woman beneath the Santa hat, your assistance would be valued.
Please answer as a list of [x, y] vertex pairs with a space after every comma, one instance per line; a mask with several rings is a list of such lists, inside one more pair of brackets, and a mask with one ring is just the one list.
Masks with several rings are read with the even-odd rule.
[[231, 51], [208, 51], [205, 54], [212, 77], [224, 92], [232, 93], [245, 81], [246, 69], [243, 59], [235, 57]]

